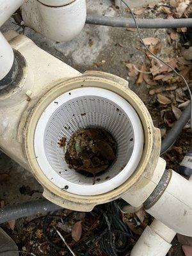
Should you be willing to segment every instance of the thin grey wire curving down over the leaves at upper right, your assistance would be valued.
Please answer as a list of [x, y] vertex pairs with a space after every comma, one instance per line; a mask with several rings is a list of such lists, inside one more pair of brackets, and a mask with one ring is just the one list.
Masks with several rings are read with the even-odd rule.
[[166, 61], [162, 60], [161, 58], [157, 57], [156, 54], [154, 54], [152, 51], [150, 51], [150, 49], [148, 49], [147, 45], [145, 45], [145, 43], [143, 42], [143, 38], [141, 36], [140, 33], [140, 28], [138, 27], [138, 22], [136, 21], [136, 18], [134, 16], [134, 13], [132, 12], [131, 8], [129, 7], [129, 5], [127, 4], [127, 0], [121, 0], [129, 9], [129, 11], [131, 12], [132, 15], [132, 19], [134, 19], [134, 23], [136, 25], [136, 29], [138, 31], [138, 35], [140, 37], [140, 42], [141, 44], [145, 47], [145, 49], [147, 49], [148, 52], [150, 52], [150, 54], [152, 54], [152, 56], [154, 56], [157, 60], [161, 61], [164, 65], [166, 65], [167, 67], [171, 68], [173, 70], [173, 72], [175, 72], [175, 74], [177, 74], [177, 76], [181, 77], [182, 80], [184, 81], [184, 83], [186, 84], [187, 88], [188, 88], [188, 92], [189, 92], [189, 97], [191, 100], [191, 118], [190, 118], [190, 124], [191, 124], [191, 130], [192, 130], [192, 94], [191, 94], [191, 90], [189, 88], [189, 84], [186, 81], [185, 77], [182, 76], [181, 74], [179, 74], [179, 72], [177, 72], [177, 70], [175, 70], [175, 68], [173, 68], [170, 64], [166, 63]]

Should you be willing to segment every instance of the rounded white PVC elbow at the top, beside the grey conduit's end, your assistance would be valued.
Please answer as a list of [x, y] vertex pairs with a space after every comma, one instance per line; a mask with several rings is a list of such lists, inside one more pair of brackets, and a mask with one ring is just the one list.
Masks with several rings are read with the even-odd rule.
[[[43, 1], [46, 2], [45, 0]], [[83, 29], [86, 20], [86, 1], [57, 6], [66, 1], [56, 1], [56, 6], [48, 6], [36, 0], [28, 0], [22, 5], [22, 17], [29, 28], [47, 38], [66, 42], [75, 38]], [[52, 4], [52, 1], [47, 1]]]

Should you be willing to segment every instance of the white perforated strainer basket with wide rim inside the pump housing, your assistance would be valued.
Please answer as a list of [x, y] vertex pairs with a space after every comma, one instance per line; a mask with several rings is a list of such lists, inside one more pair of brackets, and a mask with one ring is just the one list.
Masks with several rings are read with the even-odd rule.
[[[117, 143], [116, 160], [93, 177], [68, 168], [58, 141], [67, 143], [79, 128], [102, 127]], [[63, 93], [42, 113], [34, 139], [36, 161], [47, 179], [76, 195], [100, 195], [123, 184], [136, 170], [143, 152], [143, 129], [136, 111], [122, 97], [102, 88], [79, 88]], [[66, 148], [65, 148], [66, 150]]]

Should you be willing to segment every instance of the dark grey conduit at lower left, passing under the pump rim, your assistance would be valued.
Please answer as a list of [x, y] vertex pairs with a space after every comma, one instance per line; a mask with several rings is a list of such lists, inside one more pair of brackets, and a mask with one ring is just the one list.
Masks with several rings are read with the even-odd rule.
[[56, 204], [52, 204], [46, 199], [6, 206], [3, 209], [0, 209], [0, 224], [35, 214], [47, 214], [48, 212], [58, 211], [60, 209], [63, 208]]

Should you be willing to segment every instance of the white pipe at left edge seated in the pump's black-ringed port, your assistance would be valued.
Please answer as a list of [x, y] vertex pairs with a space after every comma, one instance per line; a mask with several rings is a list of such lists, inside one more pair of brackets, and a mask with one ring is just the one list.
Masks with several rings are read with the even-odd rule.
[[0, 81], [12, 68], [13, 60], [13, 49], [0, 32]]

